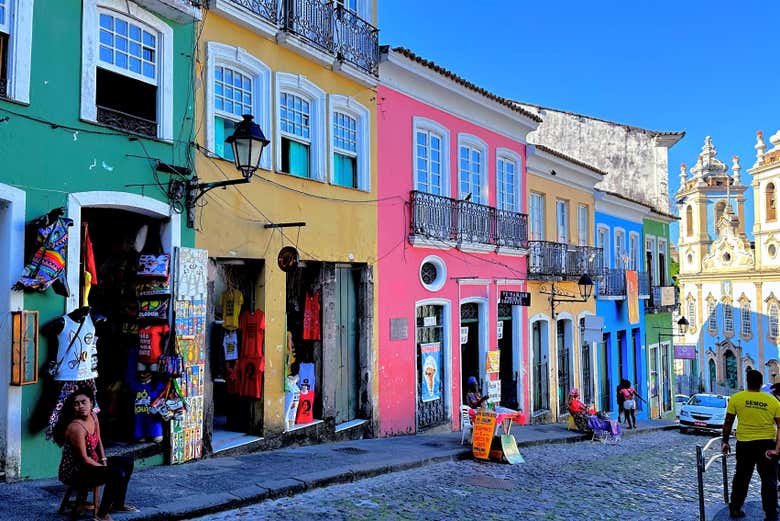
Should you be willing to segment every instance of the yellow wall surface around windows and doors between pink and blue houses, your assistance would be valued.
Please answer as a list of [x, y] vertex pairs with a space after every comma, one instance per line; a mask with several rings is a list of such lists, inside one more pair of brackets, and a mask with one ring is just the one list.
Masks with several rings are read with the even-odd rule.
[[[544, 240], [557, 242], [557, 224], [556, 224], [556, 200], [564, 200], [569, 203], [569, 242], [570, 244], [579, 244], [578, 226], [577, 226], [577, 207], [579, 205], [585, 205], [588, 207], [588, 236], [583, 241], [583, 244], [589, 246], [594, 242], [594, 222], [595, 222], [595, 200], [593, 198], [593, 192], [579, 190], [571, 186], [557, 183], [550, 179], [544, 179], [534, 175], [528, 176], [528, 192], [537, 193], [544, 196]], [[529, 206], [530, 207], [530, 201]], [[561, 290], [570, 295], [574, 295], [579, 298], [579, 288], [577, 287], [577, 281], [561, 281], [556, 282], [556, 290]], [[534, 320], [534, 317], [539, 318], [540, 315], [544, 317], [551, 317], [550, 308], [550, 296], [540, 292], [541, 288], [550, 290], [551, 284], [549, 282], [531, 280], [528, 281], [528, 291], [531, 293], [531, 306], [528, 309], [528, 316], [530, 320]], [[595, 288], [594, 288], [595, 293]], [[561, 302], [555, 307], [557, 316], [568, 315], [572, 317], [572, 364], [573, 374], [571, 375], [572, 387], [580, 388], [580, 375], [581, 375], [581, 361], [580, 361], [580, 335], [579, 330], [579, 318], [581, 314], [596, 314], [596, 298], [591, 296], [587, 302]], [[549, 343], [547, 351], [547, 359], [549, 360], [549, 382], [550, 382], [550, 410], [552, 412], [553, 419], [558, 417], [558, 370], [557, 370], [557, 352], [556, 352], [556, 322], [550, 320], [549, 322]], [[591, 367], [596, 367], [591, 363]], [[566, 390], [568, 393], [568, 390]], [[564, 397], [565, 399], [565, 397]]]

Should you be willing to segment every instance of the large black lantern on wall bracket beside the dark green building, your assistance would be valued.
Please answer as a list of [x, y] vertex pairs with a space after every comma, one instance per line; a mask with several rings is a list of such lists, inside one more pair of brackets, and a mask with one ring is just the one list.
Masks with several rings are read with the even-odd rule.
[[[263, 156], [263, 150], [268, 146], [266, 139], [260, 127], [252, 121], [253, 117], [245, 114], [244, 119], [237, 125], [233, 134], [225, 140], [233, 147], [233, 163], [236, 169], [241, 172], [241, 179], [227, 179], [225, 181], [214, 181], [211, 183], [199, 183], [198, 176], [182, 180], [173, 179], [169, 185], [169, 197], [172, 202], [179, 203], [184, 199], [184, 208], [187, 211], [187, 226], [195, 227], [195, 205], [198, 199], [213, 190], [214, 188], [225, 188], [232, 185], [248, 183], [255, 171], [260, 168], [260, 159]], [[186, 168], [171, 167], [158, 162], [157, 170], [169, 172], [176, 175], [189, 175], [190, 171]]]

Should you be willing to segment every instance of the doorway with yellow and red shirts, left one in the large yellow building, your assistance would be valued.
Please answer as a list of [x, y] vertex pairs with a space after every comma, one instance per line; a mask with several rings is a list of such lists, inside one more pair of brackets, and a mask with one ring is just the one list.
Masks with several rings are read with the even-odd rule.
[[[263, 433], [265, 315], [257, 309], [263, 263], [212, 259], [209, 363], [214, 384], [214, 452], [250, 443]], [[262, 356], [258, 357], [257, 354]], [[258, 363], [259, 361], [263, 363]]]

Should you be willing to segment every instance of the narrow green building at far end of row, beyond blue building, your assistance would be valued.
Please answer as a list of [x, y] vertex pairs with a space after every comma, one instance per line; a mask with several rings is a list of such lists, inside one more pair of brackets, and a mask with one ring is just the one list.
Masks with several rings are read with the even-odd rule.
[[676, 288], [671, 279], [669, 224], [677, 218], [651, 210], [642, 223], [645, 266], [650, 298], [645, 301], [647, 346], [647, 399], [651, 418], [674, 418], [674, 337], [672, 314], [677, 309]]

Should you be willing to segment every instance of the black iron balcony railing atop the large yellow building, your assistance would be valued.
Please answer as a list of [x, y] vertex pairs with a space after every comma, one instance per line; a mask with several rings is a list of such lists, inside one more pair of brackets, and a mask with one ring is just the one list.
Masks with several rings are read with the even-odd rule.
[[379, 30], [331, 0], [229, 0], [283, 31], [379, 75]]

